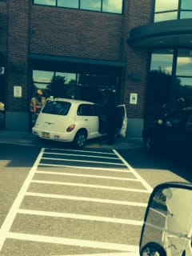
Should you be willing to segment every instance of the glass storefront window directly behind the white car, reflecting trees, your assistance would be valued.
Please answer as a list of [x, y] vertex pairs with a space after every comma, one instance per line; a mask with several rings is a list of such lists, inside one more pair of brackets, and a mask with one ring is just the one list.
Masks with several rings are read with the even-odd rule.
[[107, 74], [79, 74], [60, 71], [33, 70], [30, 97], [31, 126], [38, 117], [46, 98], [76, 98], [90, 102], [105, 102], [106, 92], [118, 88], [119, 78]]

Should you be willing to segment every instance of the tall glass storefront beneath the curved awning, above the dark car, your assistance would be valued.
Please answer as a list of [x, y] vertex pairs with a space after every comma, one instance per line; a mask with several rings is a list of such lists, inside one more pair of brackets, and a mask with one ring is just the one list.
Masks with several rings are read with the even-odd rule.
[[187, 106], [192, 106], [192, 50], [154, 50], [146, 92], [145, 125]]

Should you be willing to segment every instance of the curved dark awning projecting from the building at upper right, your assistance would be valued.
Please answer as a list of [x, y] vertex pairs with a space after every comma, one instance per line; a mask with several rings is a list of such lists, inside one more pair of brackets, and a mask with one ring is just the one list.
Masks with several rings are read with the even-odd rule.
[[130, 31], [128, 43], [136, 47], [192, 47], [192, 18], [156, 22]]

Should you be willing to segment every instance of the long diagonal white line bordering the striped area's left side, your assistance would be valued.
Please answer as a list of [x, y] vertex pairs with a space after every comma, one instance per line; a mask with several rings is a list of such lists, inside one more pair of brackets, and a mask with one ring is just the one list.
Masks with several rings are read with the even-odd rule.
[[13, 205], [10, 207], [9, 213], [6, 215], [5, 221], [2, 223], [2, 227], [0, 230], [0, 251], [2, 250], [2, 246], [9, 234], [10, 227], [12, 226], [12, 223], [14, 222], [14, 218], [16, 214], [18, 213], [19, 206], [22, 203], [22, 200], [24, 198], [24, 195], [26, 194], [26, 190], [28, 189], [30, 182], [34, 176], [35, 170], [38, 168], [38, 163], [40, 162], [42, 158], [44, 149], [41, 150], [41, 152], [38, 154], [38, 158], [34, 162], [34, 166], [30, 169], [30, 172], [28, 176], [26, 177], [25, 182], [22, 185], [21, 190], [19, 190], [17, 197], [14, 200]]

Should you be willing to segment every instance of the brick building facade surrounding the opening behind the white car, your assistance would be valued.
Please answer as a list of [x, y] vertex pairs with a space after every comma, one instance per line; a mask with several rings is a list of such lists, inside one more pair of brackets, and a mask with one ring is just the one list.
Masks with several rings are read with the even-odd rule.
[[[116, 76], [117, 102], [127, 108], [127, 136], [141, 135], [151, 47], [129, 40], [135, 39], [131, 31], [153, 22], [154, 1], [122, 4], [122, 14], [116, 14], [0, 1], [2, 129], [30, 130], [33, 70], [54, 70]], [[132, 94], [138, 96], [134, 104]]]

